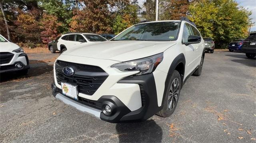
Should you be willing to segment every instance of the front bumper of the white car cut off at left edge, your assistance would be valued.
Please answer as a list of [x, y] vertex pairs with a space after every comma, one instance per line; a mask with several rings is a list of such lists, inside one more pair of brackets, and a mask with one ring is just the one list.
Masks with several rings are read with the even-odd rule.
[[[15, 65], [16, 64], [22, 64], [22, 68], [17, 68]], [[26, 53], [20, 54], [20, 55], [14, 55], [10, 63], [8, 64], [3, 64], [0, 66], [0, 73], [5, 73], [5, 72], [18, 72], [18, 71], [23, 71], [26, 69], [29, 69], [29, 61], [28, 61], [28, 56]]]

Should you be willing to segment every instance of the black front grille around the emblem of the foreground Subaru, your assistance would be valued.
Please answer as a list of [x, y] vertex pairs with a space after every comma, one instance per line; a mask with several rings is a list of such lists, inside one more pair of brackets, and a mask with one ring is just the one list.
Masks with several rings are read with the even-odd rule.
[[[74, 75], [66, 76], [62, 72], [62, 69], [67, 66], [74, 69]], [[108, 74], [100, 67], [65, 61], [57, 61], [55, 70], [58, 84], [66, 82], [78, 86], [78, 92], [87, 95], [94, 94], [108, 77]]]

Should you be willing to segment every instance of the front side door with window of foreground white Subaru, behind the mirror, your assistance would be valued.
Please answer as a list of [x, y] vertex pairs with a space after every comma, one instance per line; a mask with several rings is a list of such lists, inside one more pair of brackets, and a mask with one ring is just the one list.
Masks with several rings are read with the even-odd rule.
[[188, 42], [188, 36], [193, 35], [193, 31], [189, 24], [185, 23], [183, 27], [183, 34], [182, 34], [182, 46], [186, 52], [186, 73], [185, 77], [188, 76], [197, 66], [198, 66], [198, 45], [197, 44], [190, 44], [186, 45], [185, 43]]

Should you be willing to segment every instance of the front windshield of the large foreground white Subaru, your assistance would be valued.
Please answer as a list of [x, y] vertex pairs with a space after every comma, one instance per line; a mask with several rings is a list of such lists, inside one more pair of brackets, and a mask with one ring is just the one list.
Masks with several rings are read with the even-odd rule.
[[137, 24], [122, 32], [113, 41], [174, 41], [178, 36], [180, 22], [152, 22]]

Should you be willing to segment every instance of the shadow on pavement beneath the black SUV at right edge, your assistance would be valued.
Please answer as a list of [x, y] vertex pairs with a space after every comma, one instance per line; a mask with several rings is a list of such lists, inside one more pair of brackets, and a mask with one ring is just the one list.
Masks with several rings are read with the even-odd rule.
[[231, 61], [236, 62], [236, 63], [241, 63], [243, 65], [249, 66], [249, 67], [256, 67], [256, 61], [255, 57], [254, 59], [249, 59], [246, 57], [245, 54], [234, 54], [234, 55], [226, 55], [228, 57], [234, 57], [234, 58], [239, 58], [239, 59], [232, 59]]

